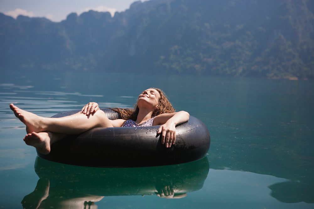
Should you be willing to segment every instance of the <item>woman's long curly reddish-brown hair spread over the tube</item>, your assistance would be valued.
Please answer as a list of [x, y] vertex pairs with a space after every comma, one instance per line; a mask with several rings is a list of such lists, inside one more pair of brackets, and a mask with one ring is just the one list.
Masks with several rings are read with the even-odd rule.
[[[152, 113], [152, 118], [160, 114], [176, 112], [172, 104], [169, 102], [165, 92], [163, 92], [161, 89], [158, 89], [158, 88], [152, 88], [152, 89], [155, 89], [156, 91], [158, 91], [160, 95], [157, 108]], [[124, 120], [129, 120], [129, 119], [134, 120], [134, 121], [137, 120], [137, 116], [139, 112], [139, 108], [137, 104], [134, 105], [134, 109], [130, 109], [130, 108], [124, 109], [124, 108], [118, 108], [118, 107], [110, 108], [110, 109], [115, 112], [118, 112], [121, 115], [121, 118]]]

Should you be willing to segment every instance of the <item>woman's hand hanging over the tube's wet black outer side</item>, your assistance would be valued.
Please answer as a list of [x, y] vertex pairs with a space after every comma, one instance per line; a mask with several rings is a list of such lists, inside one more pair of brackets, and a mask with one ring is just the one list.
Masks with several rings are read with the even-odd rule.
[[176, 124], [167, 121], [158, 128], [157, 134], [161, 134], [161, 144], [171, 147], [171, 144], [176, 143]]

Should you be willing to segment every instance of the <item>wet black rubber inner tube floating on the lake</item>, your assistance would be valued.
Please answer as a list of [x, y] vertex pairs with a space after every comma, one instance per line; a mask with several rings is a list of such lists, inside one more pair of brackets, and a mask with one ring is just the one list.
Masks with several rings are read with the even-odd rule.
[[[120, 115], [102, 108], [109, 119]], [[75, 114], [81, 110], [59, 113], [53, 118]], [[210, 136], [206, 126], [190, 116], [188, 122], [176, 127], [176, 144], [166, 148], [157, 136], [160, 126], [92, 128], [80, 135], [71, 135], [51, 145], [43, 159], [93, 167], [143, 167], [186, 163], [203, 158], [209, 149]]]

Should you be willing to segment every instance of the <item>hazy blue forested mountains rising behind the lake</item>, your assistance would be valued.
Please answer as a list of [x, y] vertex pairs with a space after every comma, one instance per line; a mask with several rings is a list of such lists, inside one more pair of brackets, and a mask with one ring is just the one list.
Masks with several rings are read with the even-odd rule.
[[0, 13], [1, 70], [314, 78], [314, 1], [134, 2], [56, 23]]

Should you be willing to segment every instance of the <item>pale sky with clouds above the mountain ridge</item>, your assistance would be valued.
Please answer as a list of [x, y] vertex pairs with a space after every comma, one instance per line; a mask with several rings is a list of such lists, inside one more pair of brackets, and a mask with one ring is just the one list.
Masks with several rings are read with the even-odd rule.
[[[18, 15], [45, 17], [60, 22], [68, 14], [79, 14], [90, 9], [114, 13], [128, 9], [136, 0], [0, 0], [0, 12], [16, 18]], [[143, 1], [142, 1], [143, 2]]]

